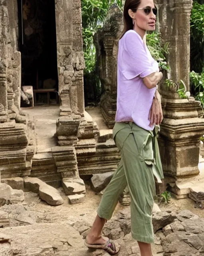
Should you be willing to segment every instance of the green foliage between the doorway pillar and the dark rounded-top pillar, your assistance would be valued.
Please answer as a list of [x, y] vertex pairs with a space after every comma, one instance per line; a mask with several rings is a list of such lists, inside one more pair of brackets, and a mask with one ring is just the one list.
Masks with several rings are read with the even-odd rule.
[[86, 68], [84, 69], [85, 106], [89, 102], [97, 104], [102, 93], [98, 73], [96, 72], [96, 48], [93, 36], [103, 26], [104, 18], [112, 4], [122, 8], [122, 0], [82, 0], [82, 36]]

